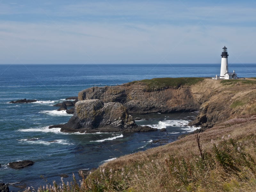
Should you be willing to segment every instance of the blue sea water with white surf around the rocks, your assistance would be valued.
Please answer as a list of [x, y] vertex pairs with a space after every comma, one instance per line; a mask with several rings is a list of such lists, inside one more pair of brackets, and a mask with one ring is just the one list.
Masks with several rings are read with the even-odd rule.
[[[229, 64], [238, 77], [256, 77], [255, 64]], [[63, 133], [49, 125], [68, 122], [72, 115], [58, 112], [54, 104], [93, 85], [116, 85], [156, 77], [213, 77], [220, 64], [172, 65], [0, 65], [0, 182], [12, 191], [19, 186], [60, 183], [60, 174], [78, 176], [79, 169], [100, 164], [140, 150], [172, 142], [186, 132], [196, 113], [136, 115], [139, 125], [159, 130], [145, 133]], [[38, 102], [10, 104], [12, 100]], [[166, 128], [166, 132], [161, 132]], [[54, 142], [49, 142], [54, 141]], [[13, 170], [8, 163], [32, 160], [33, 166]], [[43, 179], [44, 178], [44, 179]], [[46, 182], [47, 180], [47, 182]]]

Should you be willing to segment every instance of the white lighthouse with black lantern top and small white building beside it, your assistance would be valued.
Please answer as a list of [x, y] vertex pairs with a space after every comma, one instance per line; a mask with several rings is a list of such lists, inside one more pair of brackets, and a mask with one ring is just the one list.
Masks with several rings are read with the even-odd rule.
[[233, 73], [228, 72], [228, 51], [227, 47], [224, 46], [222, 48], [222, 53], [221, 53], [221, 66], [220, 66], [220, 76], [214, 77], [213, 79], [237, 79], [237, 75], [235, 73], [235, 70]]

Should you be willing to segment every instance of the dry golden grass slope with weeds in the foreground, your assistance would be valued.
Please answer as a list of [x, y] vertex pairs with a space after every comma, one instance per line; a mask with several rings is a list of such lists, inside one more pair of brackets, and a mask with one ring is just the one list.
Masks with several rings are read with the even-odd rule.
[[88, 189], [255, 191], [255, 125], [256, 116], [244, 116], [200, 133], [204, 159], [195, 134], [165, 146], [122, 156], [89, 175]]

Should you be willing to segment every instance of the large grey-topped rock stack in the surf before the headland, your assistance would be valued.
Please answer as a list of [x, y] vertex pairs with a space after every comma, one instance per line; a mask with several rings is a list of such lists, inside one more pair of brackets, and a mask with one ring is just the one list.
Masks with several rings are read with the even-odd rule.
[[67, 124], [53, 125], [63, 132], [139, 132], [156, 130], [138, 126], [121, 103], [82, 100], [76, 103], [74, 116]]

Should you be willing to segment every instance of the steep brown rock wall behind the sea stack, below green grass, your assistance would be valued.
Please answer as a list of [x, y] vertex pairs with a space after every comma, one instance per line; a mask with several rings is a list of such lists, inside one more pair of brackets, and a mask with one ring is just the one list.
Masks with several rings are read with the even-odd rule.
[[[124, 88], [125, 87], [125, 88]], [[139, 87], [140, 88], [140, 87]], [[122, 103], [129, 113], [172, 113], [199, 110], [190, 87], [165, 90], [135, 90], [131, 85], [92, 87], [78, 93], [78, 100], [99, 99], [105, 103]]]

